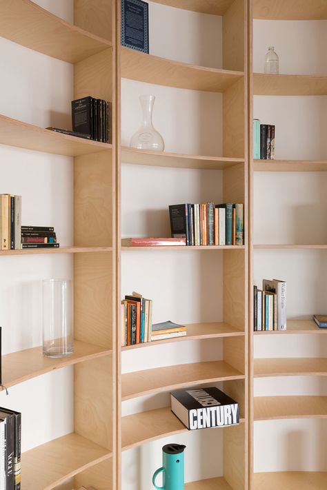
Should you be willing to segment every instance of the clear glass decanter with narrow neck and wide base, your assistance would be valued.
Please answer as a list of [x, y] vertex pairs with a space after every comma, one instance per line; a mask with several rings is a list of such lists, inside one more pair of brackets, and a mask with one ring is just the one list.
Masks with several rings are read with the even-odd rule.
[[139, 130], [133, 134], [130, 140], [132, 148], [139, 150], [157, 150], [164, 151], [165, 143], [161, 134], [155, 130], [152, 125], [152, 111], [155, 103], [154, 95], [141, 95], [139, 97], [142, 108], [142, 125]]

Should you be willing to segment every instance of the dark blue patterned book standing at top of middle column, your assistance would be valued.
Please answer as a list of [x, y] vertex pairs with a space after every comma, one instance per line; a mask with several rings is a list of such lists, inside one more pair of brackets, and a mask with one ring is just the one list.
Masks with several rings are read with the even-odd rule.
[[149, 14], [145, 1], [121, 0], [121, 45], [149, 52]]

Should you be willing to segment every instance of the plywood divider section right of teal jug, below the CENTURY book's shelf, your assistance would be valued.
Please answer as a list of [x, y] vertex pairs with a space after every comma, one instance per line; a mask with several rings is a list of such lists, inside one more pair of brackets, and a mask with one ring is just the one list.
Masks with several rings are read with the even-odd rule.
[[224, 477], [232, 490], [248, 488], [244, 457], [246, 445], [245, 424], [228, 427], [224, 431]]

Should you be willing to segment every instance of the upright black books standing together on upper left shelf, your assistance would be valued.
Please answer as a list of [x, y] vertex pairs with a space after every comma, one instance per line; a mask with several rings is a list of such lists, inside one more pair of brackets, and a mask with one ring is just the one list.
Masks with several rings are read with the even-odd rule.
[[72, 130], [110, 143], [110, 103], [91, 96], [72, 101]]

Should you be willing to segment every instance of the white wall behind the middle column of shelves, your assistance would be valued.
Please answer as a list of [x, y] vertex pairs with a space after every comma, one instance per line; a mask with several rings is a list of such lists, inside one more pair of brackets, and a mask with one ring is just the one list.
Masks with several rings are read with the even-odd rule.
[[[221, 17], [149, 3], [150, 54], [221, 68]], [[164, 76], [164, 74], [163, 74]], [[222, 96], [123, 80], [121, 139], [141, 123], [139, 95], [156, 96], [153, 123], [165, 150], [221, 156]], [[122, 165], [122, 235], [170, 236], [168, 205], [221, 202], [221, 171]], [[153, 300], [153, 322], [222, 320], [222, 254], [213, 252], [123, 252], [121, 296], [137, 291]], [[176, 299], [178, 298], [178, 300]], [[212, 307], [212, 305], [214, 305]], [[221, 340], [202, 340], [124, 351], [122, 371], [219, 360]], [[219, 384], [216, 383], [217, 386]], [[168, 393], [128, 400], [123, 415], [170, 406]], [[152, 473], [161, 466], [161, 447], [180, 442], [186, 449], [186, 480], [222, 474], [223, 431], [184, 433], [123, 453], [122, 488], [150, 490]], [[199, 456], [200, 455], [200, 456]], [[160, 480], [159, 480], [160, 481]]]

